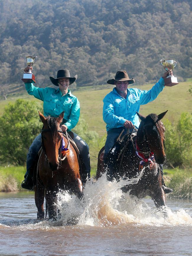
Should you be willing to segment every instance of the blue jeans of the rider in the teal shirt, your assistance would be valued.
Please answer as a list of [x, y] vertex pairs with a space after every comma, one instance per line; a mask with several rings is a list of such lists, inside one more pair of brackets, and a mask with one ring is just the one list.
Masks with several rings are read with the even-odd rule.
[[[79, 137], [76, 133], [74, 134], [74, 142], [77, 145], [77, 148], [79, 149], [80, 158], [82, 161], [82, 180], [86, 180], [86, 178], [90, 178], [90, 153], [89, 153], [89, 147], [87, 143], [82, 140], [81, 137]], [[39, 134], [35, 140], [32, 142], [28, 154], [27, 154], [27, 171], [25, 173], [25, 178], [27, 175], [32, 178], [33, 177], [33, 170], [32, 166], [35, 161], [35, 158], [38, 155], [38, 152], [41, 148], [41, 134]]]

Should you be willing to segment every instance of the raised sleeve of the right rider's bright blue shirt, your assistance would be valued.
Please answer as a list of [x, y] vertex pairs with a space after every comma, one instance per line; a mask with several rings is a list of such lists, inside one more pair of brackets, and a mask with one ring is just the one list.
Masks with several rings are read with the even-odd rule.
[[140, 90], [140, 104], [144, 105], [154, 101], [165, 87], [165, 81], [161, 77], [160, 80], [150, 90]]

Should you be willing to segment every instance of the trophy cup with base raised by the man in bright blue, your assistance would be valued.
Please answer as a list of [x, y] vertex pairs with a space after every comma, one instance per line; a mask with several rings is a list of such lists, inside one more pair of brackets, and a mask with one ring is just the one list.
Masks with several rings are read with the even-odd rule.
[[[172, 71], [174, 67], [177, 65], [177, 62], [174, 59], [166, 59], [160, 60], [161, 65], [164, 67], [166, 71]], [[165, 86], [173, 86], [178, 85], [177, 77], [174, 77], [173, 75], [168, 74], [168, 76], [165, 78]]]

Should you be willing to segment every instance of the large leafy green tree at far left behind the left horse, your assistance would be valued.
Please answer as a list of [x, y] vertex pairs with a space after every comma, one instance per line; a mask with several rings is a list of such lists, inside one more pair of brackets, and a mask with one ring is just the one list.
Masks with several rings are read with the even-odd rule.
[[40, 103], [17, 100], [5, 107], [0, 117], [0, 162], [24, 165], [28, 148], [40, 133]]

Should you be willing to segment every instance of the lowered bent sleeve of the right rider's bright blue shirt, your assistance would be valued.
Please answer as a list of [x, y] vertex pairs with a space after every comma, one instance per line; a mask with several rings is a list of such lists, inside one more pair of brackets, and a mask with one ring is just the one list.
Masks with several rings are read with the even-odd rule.
[[123, 117], [115, 115], [113, 103], [105, 98], [103, 99], [103, 120], [113, 128], [123, 126], [126, 121]]

